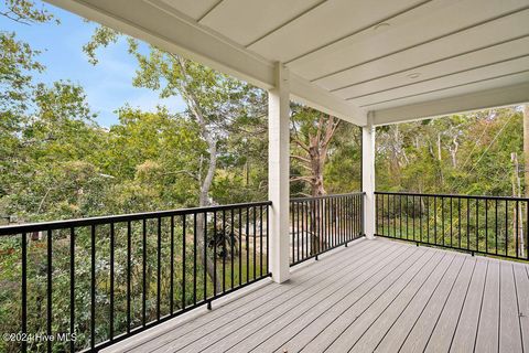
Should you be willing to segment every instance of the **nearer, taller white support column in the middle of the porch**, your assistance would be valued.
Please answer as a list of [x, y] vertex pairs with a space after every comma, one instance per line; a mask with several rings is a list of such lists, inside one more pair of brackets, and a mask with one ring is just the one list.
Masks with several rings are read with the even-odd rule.
[[289, 71], [276, 67], [276, 87], [268, 93], [268, 197], [270, 213], [270, 269], [280, 284], [290, 278], [290, 93]]

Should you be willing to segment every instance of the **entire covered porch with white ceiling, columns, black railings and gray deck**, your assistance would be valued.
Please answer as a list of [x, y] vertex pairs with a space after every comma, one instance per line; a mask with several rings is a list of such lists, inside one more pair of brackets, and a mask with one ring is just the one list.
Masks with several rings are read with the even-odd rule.
[[[522, 263], [529, 260], [529, 222], [508, 226], [509, 205], [518, 212], [529, 201], [379, 194], [375, 184], [377, 127], [529, 101], [527, 0], [48, 2], [268, 90], [269, 196], [259, 203], [0, 228], [0, 235], [21, 239], [22, 333], [29, 331], [26, 236], [43, 232], [52, 238], [62, 232], [73, 244], [72, 268], [76, 234], [91, 239], [86, 351], [529, 350], [529, 269]], [[361, 128], [360, 192], [290, 199], [291, 100]], [[417, 207], [423, 200], [431, 208]], [[445, 215], [466, 222], [447, 223]], [[197, 225], [205, 231], [197, 233]], [[231, 243], [224, 242], [224, 249], [215, 244], [208, 254], [204, 247], [204, 265], [215, 274], [209, 286], [206, 271], [196, 271], [202, 256], [196, 234], [205, 244], [205, 233], [217, 232], [217, 225], [223, 232], [231, 227]], [[182, 245], [174, 245], [175, 232]], [[108, 254], [96, 253], [101, 235], [111, 239]], [[128, 239], [128, 248], [115, 246], [115, 236]], [[142, 296], [132, 299], [131, 236], [143, 242], [137, 254], [143, 258]], [[149, 254], [158, 256], [155, 278], [145, 278], [148, 239]], [[115, 257], [119, 246], [121, 259]], [[226, 246], [238, 254], [239, 266], [234, 267], [234, 255], [226, 256]], [[51, 245], [48, 252], [51, 268]], [[96, 292], [96, 263], [107, 255], [108, 313]], [[120, 260], [122, 276], [115, 271]], [[163, 288], [168, 276], [170, 288]], [[185, 287], [186, 276], [195, 279], [193, 288]], [[50, 270], [48, 303], [51, 278]], [[203, 298], [196, 297], [197, 286], [204, 286]], [[72, 285], [72, 298], [75, 290]], [[118, 291], [125, 298], [120, 304], [114, 301]], [[72, 331], [82, 309], [69, 301]], [[119, 310], [122, 322], [115, 322]], [[110, 325], [105, 338], [97, 335], [101, 317]], [[118, 327], [125, 329], [115, 331]], [[47, 330], [52, 333], [51, 324]], [[21, 349], [28, 347], [21, 343]]]

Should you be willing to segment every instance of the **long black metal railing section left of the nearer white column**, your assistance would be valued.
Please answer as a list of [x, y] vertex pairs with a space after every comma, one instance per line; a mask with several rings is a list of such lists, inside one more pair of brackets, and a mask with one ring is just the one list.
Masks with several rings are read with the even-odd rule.
[[270, 205], [0, 227], [0, 351], [102, 349], [268, 277]]

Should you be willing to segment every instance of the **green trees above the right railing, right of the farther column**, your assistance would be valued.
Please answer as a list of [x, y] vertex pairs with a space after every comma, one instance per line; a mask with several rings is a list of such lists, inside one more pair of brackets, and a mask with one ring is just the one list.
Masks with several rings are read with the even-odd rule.
[[378, 128], [377, 190], [512, 195], [521, 131], [517, 108]]

